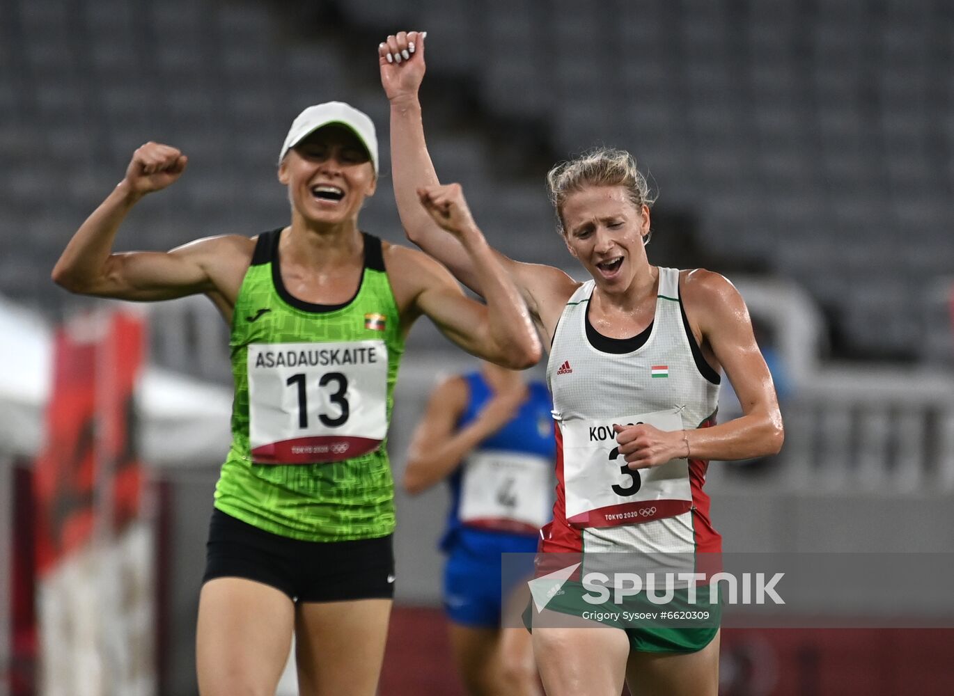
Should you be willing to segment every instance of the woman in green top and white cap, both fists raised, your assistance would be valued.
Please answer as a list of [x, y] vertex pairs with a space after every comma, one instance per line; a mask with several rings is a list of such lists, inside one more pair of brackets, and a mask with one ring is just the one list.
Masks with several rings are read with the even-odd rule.
[[135, 203], [185, 167], [174, 147], [136, 150], [53, 280], [139, 301], [205, 294], [231, 326], [233, 444], [198, 609], [203, 696], [274, 693], [293, 633], [302, 694], [370, 696], [393, 594], [384, 441], [404, 337], [425, 315], [468, 352], [512, 368], [540, 358], [539, 340], [459, 186], [422, 190], [421, 203], [467, 249], [486, 306], [428, 256], [360, 231], [377, 141], [370, 119], [346, 104], [309, 107], [285, 138], [286, 227], [114, 253]]

